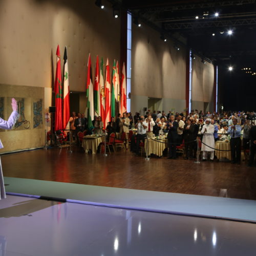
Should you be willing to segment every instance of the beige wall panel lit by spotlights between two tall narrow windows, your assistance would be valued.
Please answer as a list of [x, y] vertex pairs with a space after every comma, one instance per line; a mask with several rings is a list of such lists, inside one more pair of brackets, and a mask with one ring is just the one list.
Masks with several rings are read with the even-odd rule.
[[185, 99], [185, 72], [185, 49], [177, 51], [146, 25], [133, 25], [132, 96]]

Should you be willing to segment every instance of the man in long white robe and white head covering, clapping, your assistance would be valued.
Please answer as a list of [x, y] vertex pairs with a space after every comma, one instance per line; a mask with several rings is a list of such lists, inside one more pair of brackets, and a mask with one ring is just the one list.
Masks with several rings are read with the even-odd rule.
[[204, 143], [202, 143], [203, 161], [206, 161], [207, 152], [210, 152], [210, 160], [214, 160], [214, 125], [212, 125], [210, 121], [210, 118], [207, 118], [201, 130], [201, 134], [203, 134], [202, 142]]

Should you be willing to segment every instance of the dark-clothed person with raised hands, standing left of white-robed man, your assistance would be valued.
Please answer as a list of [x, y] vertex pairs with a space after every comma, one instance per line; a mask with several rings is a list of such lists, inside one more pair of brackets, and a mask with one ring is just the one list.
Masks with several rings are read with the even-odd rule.
[[194, 140], [195, 125], [187, 119], [183, 129], [183, 138], [185, 143], [186, 159], [193, 159], [193, 140]]

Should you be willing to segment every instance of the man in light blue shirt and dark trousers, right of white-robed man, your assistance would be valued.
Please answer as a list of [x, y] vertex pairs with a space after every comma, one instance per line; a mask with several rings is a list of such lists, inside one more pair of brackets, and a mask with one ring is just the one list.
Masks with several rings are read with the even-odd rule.
[[241, 125], [237, 124], [237, 118], [232, 119], [233, 125], [228, 127], [230, 135], [231, 163], [240, 164], [241, 161]]

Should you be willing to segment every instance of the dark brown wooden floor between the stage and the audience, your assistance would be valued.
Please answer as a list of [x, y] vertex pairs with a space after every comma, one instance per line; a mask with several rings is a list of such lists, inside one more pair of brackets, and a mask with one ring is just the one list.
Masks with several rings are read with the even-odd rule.
[[4, 176], [256, 200], [256, 168], [226, 162], [147, 161], [129, 151], [101, 154], [35, 150], [1, 156]]

